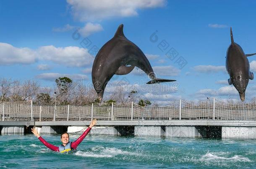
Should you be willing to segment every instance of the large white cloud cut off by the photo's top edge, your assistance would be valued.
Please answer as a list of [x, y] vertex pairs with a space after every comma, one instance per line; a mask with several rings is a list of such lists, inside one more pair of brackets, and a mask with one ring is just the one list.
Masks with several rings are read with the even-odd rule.
[[102, 20], [138, 15], [138, 9], [163, 7], [166, 0], [67, 0], [80, 21]]

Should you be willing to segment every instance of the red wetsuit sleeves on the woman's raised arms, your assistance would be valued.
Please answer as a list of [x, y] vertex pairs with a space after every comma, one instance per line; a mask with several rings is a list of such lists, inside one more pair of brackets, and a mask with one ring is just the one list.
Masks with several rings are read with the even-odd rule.
[[[76, 147], [84, 140], [85, 136], [89, 133], [90, 130], [91, 130], [91, 128], [88, 127], [88, 128], [86, 129], [86, 131], [84, 131], [84, 133], [83, 133], [76, 141], [72, 142], [72, 143], [71, 143], [71, 148], [72, 148], [72, 149], [76, 149]], [[48, 143], [48, 142], [45, 141], [41, 136], [38, 137], [38, 139], [39, 139], [45, 146], [47, 146], [49, 149], [51, 149], [52, 151], [58, 151], [58, 152], [60, 152], [59, 147], [54, 146], [54, 145]]]

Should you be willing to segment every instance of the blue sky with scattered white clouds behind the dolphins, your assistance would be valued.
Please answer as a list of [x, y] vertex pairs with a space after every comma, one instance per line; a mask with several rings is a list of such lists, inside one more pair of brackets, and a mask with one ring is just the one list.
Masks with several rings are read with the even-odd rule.
[[[125, 36], [147, 55], [157, 76], [178, 82], [173, 91], [138, 88], [141, 95], [164, 104], [179, 98], [239, 100], [238, 92], [227, 84], [224, 67], [229, 29], [232, 26], [234, 40], [245, 53], [255, 53], [255, 6], [249, 0], [1, 1], [0, 77], [37, 80], [41, 86], [53, 86], [58, 76], [91, 82], [95, 53], [90, 49], [101, 48], [123, 23]], [[72, 35], [78, 28], [81, 37], [75, 40]], [[153, 43], [150, 36], [156, 30], [158, 40]], [[91, 45], [85, 46], [83, 40]], [[166, 56], [171, 48], [178, 52], [173, 60]], [[180, 56], [187, 62], [181, 69], [175, 62]], [[255, 57], [248, 58], [252, 72]], [[146, 74], [134, 70], [114, 76], [111, 82], [132, 85], [141, 80], [149, 81]], [[161, 86], [173, 87], [171, 83]], [[255, 88], [250, 81], [247, 99], [255, 96]]]

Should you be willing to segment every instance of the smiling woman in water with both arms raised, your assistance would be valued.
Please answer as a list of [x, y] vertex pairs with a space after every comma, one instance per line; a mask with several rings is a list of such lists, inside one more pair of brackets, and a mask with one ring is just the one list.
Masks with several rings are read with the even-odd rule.
[[78, 144], [80, 144], [85, 136], [89, 133], [89, 131], [91, 130], [91, 128], [97, 123], [97, 120], [94, 119], [93, 121], [91, 121], [90, 126], [86, 129], [86, 131], [84, 131], [84, 133], [74, 142], [69, 142], [69, 134], [67, 132], [64, 132], [61, 134], [60, 136], [60, 140], [62, 142], [62, 144], [60, 146], [54, 146], [50, 143], [48, 143], [47, 141], [45, 141], [38, 133], [37, 130], [32, 128], [31, 131], [32, 133], [34, 133], [35, 136], [37, 136], [37, 138], [45, 145], [47, 146], [49, 149], [51, 149], [52, 151], [57, 151], [60, 153], [64, 153], [64, 152], [68, 152], [71, 150], [76, 149], [76, 147], [78, 146]]

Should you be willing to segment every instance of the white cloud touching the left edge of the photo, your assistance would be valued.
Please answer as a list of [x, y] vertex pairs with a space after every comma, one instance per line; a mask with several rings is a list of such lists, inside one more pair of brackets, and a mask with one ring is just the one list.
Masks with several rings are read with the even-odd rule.
[[29, 48], [16, 48], [0, 43], [0, 65], [30, 64], [37, 60], [36, 53]]

